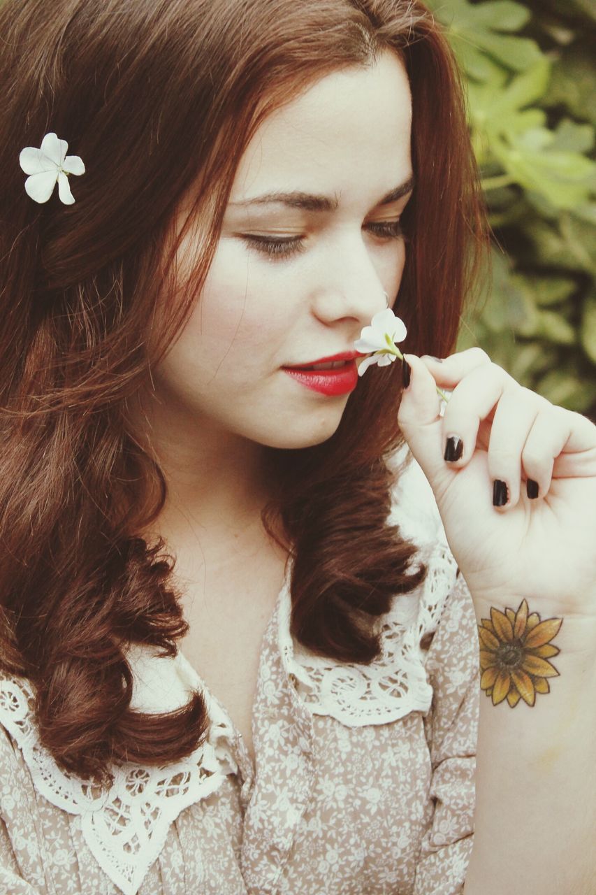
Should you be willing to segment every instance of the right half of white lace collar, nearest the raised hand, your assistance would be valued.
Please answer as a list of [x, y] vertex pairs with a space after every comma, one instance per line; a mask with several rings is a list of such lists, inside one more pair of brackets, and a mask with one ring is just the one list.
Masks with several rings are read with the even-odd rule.
[[382, 653], [377, 661], [339, 663], [294, 642], [289, 633], [289, 587], [281, 593], [278, 638], [285, 670], [313, 714], [330, 716], [347, 727], [386, 724], [430, 709], [432, 687], [421, 641], [437, 629], [457, 567], [430, 485], [413, 460], [394, 490], [390, 520], [419, 545], [428, 572], [420, 588], [397, 596], [379, 620]]

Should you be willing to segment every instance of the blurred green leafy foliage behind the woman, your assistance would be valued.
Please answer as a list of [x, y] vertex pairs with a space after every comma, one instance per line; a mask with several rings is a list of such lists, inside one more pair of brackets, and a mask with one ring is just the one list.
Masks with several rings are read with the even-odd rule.
[[596, 0], [427, 0], [464, 70], [492, 283], [458, 348], [596, 418]]

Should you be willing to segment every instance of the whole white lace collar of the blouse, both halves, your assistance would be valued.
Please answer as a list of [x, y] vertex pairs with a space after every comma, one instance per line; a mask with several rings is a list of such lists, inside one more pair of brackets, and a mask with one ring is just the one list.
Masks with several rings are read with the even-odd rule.
[[[290, 565], [277, 600], [277, 625], [274, 613], [269, 626], [277, 631], [285, 670], [303, 702], [314, 714], [331, 716], [349, 727], [387, 723], [430, 707], [432, 692], [420, 641], [438, 624], [456, 565], [430, 486], [414, 462], [396, 486], [391, 521], [420, 545], [429, 573], [419, 591], [397, 598], [393, 609], [379, 619], [383, 644], [379, 661], [370, 666], [341, 664], [294, 644], [289, 634]], [[170, 824], [185, 807], [214, 792], [237, 766], [231, 747], [234, 725], [182, 655], [158, 659], [149, 648], [139, 646], [130, 652], [129, 661], [134, 708], [171, 711], [183, 705], [193, 689], [205, 696], [209, 737], [183, 761], [165, 767], [122, 765], [114, 769], [115, 781], [107, 792], [61, 771], [39, 744], [33, 694], [21, 678], [0, 679], [0, 722], [21, 747], [38, 792], [53, 805], [81, 816], [82, 833], [102, 870], [124, 895], [135, 895], [163, 848]]]

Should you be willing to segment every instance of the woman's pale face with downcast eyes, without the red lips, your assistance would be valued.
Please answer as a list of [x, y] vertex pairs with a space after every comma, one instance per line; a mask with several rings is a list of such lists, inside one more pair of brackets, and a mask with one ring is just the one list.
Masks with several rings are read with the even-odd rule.
[[[270, 447], [333, 435], [349, 392], [322, 393], [285, 368], [353, 351], [384, 293], [395, 299], [411, 118], [404, 66], [387, 52], [329, 74], [260, 126], [200, 301], [154, 374], [193, 428]], [[192, 241], [180, 251], [187, 269]]]

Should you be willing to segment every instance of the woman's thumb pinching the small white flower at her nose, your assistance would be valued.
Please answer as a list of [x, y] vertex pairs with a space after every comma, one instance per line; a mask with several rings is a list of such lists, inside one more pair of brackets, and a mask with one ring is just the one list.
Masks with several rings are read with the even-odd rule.
[[397, 422], [438, 498], [453, 477], [443, 459], [443, 424], [438, 415], [441, 399], [435, 380], [421, 359], [415, 354], [404, 354], [404, 360], [410, 367], [410, 383], [404, 387]]

